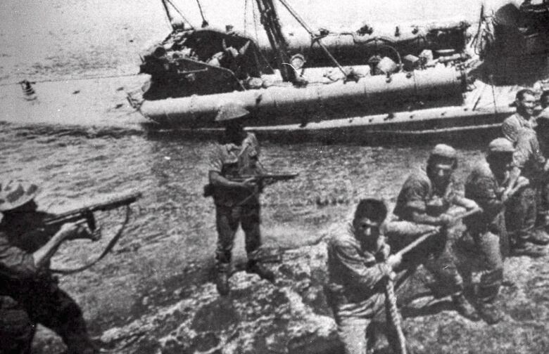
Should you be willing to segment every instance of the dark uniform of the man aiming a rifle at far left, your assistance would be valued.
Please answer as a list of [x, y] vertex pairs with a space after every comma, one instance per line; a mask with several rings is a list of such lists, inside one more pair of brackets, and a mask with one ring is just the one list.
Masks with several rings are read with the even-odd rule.
[[29, 216], [6, 214], [0, 223], [0, 344], [6, 350], [0, 353], [30, 353], [37, 324], [61, 336], [70, 354], [97, 353], [80, 306], [59, 289], [49, 267], [35, 265], [32, 253], [51, 235], [34, 229]]

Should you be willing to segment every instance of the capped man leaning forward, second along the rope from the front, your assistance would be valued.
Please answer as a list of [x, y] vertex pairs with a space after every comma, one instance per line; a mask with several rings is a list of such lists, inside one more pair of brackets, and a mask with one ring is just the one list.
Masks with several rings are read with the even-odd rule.
[[404, 257], [403, 266], [414, 268], [423, 264], [437, 281], [436, 292], [447, 294], [449, 291], [457, 310], [476, 320], [476, 311], [463, 295], [463, 280], [447, 242], [448, 229], [455, 224], [454, 217], [448, 214], [450, 206], [463, 206], [468, 210], [478, 207], [455, 190], [452, 175], [456, 168], [455, 149], [436, 145], [427, 160], [427, 169], [417, 169], [405, 181], [393, 210], [394, 220], [386, 224], [385, 234], [391, 249], [398, 251], [420, 235], [441, 227], [434, 237]]

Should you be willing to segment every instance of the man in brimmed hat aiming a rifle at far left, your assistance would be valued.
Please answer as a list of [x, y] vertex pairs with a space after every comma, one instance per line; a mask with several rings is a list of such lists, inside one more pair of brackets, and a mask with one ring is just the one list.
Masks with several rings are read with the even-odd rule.
[[50, 258], [67, 240], [89, 238], [87, 226], [65, 223], [55, 235], [40, 230], [37, 185], [0, 184], [0, 343], [1, 353], [30, 353], [36, 325], [56, 332], [70, 354], [98, 353], [80, 306], [59, 289], [49, 271]]

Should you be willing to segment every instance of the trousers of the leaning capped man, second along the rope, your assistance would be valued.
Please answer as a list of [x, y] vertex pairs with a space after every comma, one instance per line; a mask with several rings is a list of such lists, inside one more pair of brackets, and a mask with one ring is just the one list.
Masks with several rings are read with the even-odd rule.
[[[385, 235], [395, 253], [418, 237], [435, 230], [432, 225], [411, 221], [390, 221], [384, 228]], [[448, 231], [442, 230], [429, 240], [419, 244], [403, 256], [403, 262], [396, 271], [423, 265], [436, 280], [436, 295], [458, 294], [463, 291], [463, 279], [457, 270], [455, 259], [450, 251]]]

